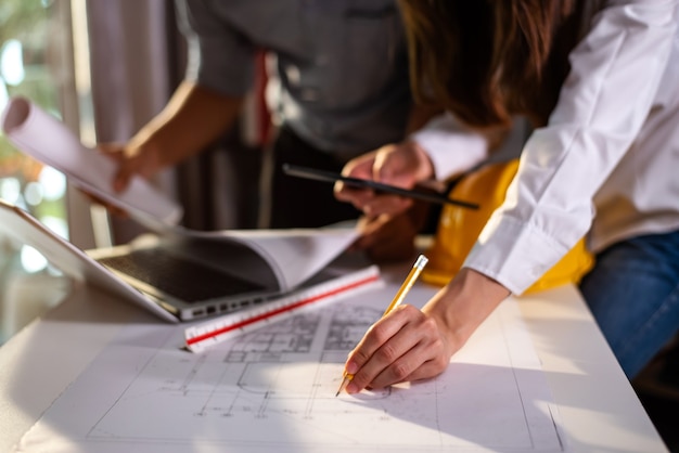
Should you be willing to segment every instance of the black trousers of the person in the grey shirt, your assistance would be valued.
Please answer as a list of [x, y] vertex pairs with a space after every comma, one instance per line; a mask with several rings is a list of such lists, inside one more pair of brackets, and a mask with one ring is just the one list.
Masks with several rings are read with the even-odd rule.
[[272, 148], [269, 228], [317, 228], [360, 216], [354, 206], [338, 202], [333, 184], [287, 176], [283, 164], [340, 172], [346, 160], [310, 146], [286, 127]]

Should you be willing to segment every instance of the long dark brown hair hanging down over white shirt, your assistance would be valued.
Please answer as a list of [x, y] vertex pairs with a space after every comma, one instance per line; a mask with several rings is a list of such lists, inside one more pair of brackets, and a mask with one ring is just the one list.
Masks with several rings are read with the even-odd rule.
[[577, 40], [577, 0], [399, 0], [419, 101], [472, 127], [543, 125]]

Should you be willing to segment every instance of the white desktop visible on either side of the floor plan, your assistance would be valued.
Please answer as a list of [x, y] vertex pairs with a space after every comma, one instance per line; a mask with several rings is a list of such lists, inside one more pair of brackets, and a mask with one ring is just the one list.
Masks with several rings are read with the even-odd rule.
[[[569, 451], [667, 452], [579, 293], [520, 300]], [[0, 452], [9, 451], [139, 308], [76, 287], [0, 347]], [[149, 315], [150, 323], [162, 323]]]

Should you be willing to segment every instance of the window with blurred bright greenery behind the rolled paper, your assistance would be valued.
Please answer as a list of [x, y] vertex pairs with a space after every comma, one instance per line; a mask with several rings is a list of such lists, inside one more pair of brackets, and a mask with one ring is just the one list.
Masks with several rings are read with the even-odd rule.
[[[76, 90], [72, 26], [78, 23], [72, 17], [84, 11], [84, 4], [85, 0], [0, 2], [0, 109], [11, 96], [23, 95], [72, 130], [80, 130], [77, 113], [84, 98]], [[87, 204], [74, 192], [64, 174], [24, 155], [0, 132], [1, 199], [73, 240], [74, 230], [91, 231]], [[79, 236], [80, 246], [87, 244], [89, 237]], [[59, 302], [68, 288], [68, 280], [38, 250], [0, 234], [0, 344]]]

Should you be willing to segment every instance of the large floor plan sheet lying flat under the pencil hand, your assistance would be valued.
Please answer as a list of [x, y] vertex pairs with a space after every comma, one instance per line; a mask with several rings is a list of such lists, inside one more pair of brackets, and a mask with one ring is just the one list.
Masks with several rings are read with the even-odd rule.
[[[417, 284], [409, 301], [432, 294]], [[567, 451], [513, 299], [437, 378], [335, 398], [347, 351], [392, 297], [359, 295], [202, 354], [181, 349], [180, 327], [131, 324], [17, 451]]]

